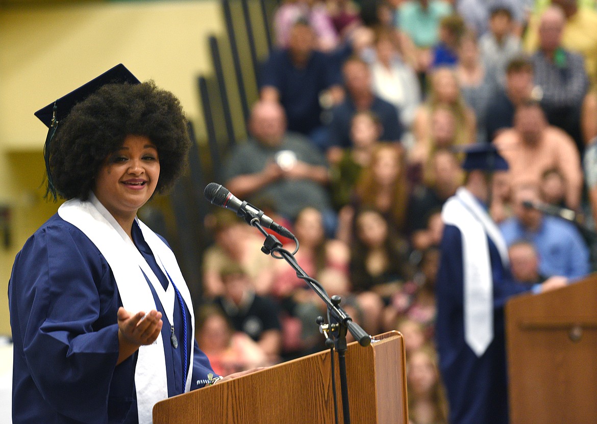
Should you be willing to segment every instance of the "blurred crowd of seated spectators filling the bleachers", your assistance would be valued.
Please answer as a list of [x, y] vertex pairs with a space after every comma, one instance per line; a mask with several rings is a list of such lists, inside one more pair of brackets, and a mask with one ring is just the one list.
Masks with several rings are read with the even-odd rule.
[[[298, 264], [368, 333], [405, 336], [411, 422], [445, 423], [434, 285], [461, 148], [494, 143], [509, 163], [488, 207], [516, 280], [593, 268], [595, 0], [286, 0], [273, 27], [221, 182], [296, 234]], [[229, 211], [207, 224], [197, 339], [214, 370], [325, 348], [323, 302], [263, 236]]]

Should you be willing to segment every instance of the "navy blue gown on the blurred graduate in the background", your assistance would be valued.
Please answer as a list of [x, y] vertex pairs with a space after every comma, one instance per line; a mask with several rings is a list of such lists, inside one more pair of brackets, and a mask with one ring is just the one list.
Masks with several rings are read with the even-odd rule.
[[504, 268], [496, 245], [489, 239], [493, 277], [494, 338], [477, 357], [464, 341], [464, 277], [460, 230], [446, 225], [436, 283], [436, 342], [439, 370], [448, 395], [451, 424], [506, 424], [508, 422], [504, 304], [525, 292]]

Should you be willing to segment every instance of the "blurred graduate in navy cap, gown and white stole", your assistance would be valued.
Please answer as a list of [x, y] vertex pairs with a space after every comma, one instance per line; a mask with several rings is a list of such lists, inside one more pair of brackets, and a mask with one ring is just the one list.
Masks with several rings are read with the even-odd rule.
[[[445, 228], [436, 283], [436, 342], [452, 424], [507, 423], [503, 307], [530, 287], [510, 273], [508, 252], [488, 215], [494, 171], [508, 168], [493, 145], [466, 148], [464, 186], [442, 209]], [[565, 285], [553, 277], [536, 292]]]

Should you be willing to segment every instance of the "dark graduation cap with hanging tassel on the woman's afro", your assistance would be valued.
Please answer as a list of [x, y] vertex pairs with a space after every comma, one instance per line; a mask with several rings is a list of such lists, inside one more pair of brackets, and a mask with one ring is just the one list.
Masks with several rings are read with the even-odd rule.
[[85, 83], [79, 88], [69, 92], [69, 94], [60, 97], [53, 103], [50, 103], [48, 106], [42, 107], [42, 109], [35, 112], [35, 116], [49, 128], [44, 144], [45, 169], [48, 178], [48, 187], [45, 197], [48, 197], [48, 194], [51, 194], [54, 200], [56, 200], [56, 188], [54, 188], [50, 172], [50, 143], [56, 133], [59, 122], [70, 113], [77, 103], [85, 100], [101, 86], [111, 83], [139, 84], [140, 81], [130, 72], [130, 70], [120, 63], [100, 76], [92, 79], [90, 82]]

